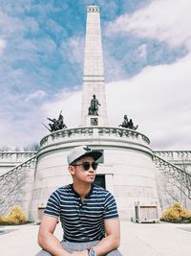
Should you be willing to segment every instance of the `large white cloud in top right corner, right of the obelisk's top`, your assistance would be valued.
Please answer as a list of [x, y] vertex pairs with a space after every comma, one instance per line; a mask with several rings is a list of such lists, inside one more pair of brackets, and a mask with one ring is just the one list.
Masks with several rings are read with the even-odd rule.
[[131, 32], [139, 37], [165, 41], [170, 46], [191, 47], [191, 1], [154, 0], [133, 14], [122, 15], [108, 25], [108, 33]]

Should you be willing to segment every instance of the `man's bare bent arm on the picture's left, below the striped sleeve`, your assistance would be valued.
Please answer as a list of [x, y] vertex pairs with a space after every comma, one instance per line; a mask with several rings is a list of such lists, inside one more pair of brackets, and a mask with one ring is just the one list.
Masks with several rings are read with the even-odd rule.
[[58, 239], [53, 235], [57, 218], [43, 215], [38, 231], [38, 244], [53, 256], [71, 256], [69, 252], [62, 248]]

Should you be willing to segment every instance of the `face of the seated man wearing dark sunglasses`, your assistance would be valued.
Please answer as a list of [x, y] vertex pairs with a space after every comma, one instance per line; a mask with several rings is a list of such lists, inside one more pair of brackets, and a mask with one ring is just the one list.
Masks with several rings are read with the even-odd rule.
[[69, 166], [69, 172], [73, 176], [74, 182], [93, 183], [96, 177], [96, 170], [93, 169], [95, 166], [94, 158], [92, 156], [85, 156], [80, 158], [74, 166]]

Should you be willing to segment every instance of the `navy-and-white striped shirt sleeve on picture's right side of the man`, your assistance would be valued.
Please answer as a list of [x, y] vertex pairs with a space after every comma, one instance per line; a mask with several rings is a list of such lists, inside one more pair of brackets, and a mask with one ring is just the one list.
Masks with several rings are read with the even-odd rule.
[[103, 218], [104, 218], [104, 220], [118, 218], [116, 200], [113, 197], [113, 195], [109, 192], [105, 199], [105, 211], [104, 211]]

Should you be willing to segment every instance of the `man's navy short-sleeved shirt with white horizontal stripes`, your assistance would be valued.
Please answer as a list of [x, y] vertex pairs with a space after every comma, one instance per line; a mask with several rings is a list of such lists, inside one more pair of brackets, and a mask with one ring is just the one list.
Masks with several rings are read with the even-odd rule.
[[60, 218], [64, 241], [74, 243], [101, 240], [104, 220], [118, 218], [115, 198], [96, 184], [83, 201], [73, 184], [58, 188], [49, 198], [45, 214]]

